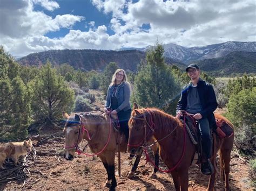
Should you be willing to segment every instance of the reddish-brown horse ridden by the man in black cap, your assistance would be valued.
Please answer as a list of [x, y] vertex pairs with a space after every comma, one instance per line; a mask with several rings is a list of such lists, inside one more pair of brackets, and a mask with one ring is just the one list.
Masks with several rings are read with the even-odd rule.
[[[171, 174], [176, 190], [188, 190], [188, 168], [193, 161], [196, 146], [191, 142], [180, 120], [158, 109], [138, 109], [137, 104], [134, 104], [129, 128], [128, 151], [131, 154], [137, 154], [142, 144], [154, 136], [160, 140], [161, 159], [168, 168], [172, 169]], [[166, 135], [169, 136], [166, 137]], [[230, 190], [228, 174], [234, 136], [224, 139], [215, 135], [214, 137], [216, 144], [214, 145], [215, 149], [213, 149], [215, 152], [213, 153], [212, 164], [215, 164], [217, 151], [220, 150], [221, 167], [224, 166], [225, 172], [225, 189]], [[214, 189], [215, 172], [214, 165], [214, 173], [210, 176], [207, 190]]]

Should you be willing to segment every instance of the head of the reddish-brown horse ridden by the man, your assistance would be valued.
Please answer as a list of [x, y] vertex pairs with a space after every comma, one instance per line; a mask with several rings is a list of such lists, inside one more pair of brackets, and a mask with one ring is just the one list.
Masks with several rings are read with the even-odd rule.
[[128, 152], [131, 154], [138, 154], [139, 148], [145, 146], [153, 136], [154, 130], [149, 122], [149, 115], [146, 109], [138, 109], [138, 105], [133, 104], [129, 120], [130, 133], [128, 140]]

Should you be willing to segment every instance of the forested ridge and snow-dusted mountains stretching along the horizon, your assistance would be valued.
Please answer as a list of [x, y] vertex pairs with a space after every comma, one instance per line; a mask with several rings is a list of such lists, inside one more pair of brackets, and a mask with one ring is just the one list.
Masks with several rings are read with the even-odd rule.
[[[18, 60], [23, 65], [42, 65], [48, 60], [53, 65], [69, 63], [75, 69], [102, 71], [109, 62], [120, 68], [136, 72], [140, 62], [145, 61], [145, 48], [125, 48], [120, 51], [95, 49], [64, 49], [32, 53]], [[256, 73], [256, 42], [229, 41], [201, 47], [186, 48], [176, 44], [163, 45], [165, 62], [185, 68], [196, 62], [205, 72], [214, 75], [232, 73]]]

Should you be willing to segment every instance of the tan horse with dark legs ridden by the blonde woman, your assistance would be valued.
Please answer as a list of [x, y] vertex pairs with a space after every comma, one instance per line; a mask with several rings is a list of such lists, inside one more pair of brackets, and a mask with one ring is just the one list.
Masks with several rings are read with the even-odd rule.
[[[86, 139], [91, 151], [99, 156], [106, 169], [107, 181], [105, 186], [113, 190], [117, 186], [114, 176], [114, 156], [118, 152], [117, 139], [119, 132], [112, 127], [110, 118], [91, 112], [72, 114], [71, 116], [63, 112], [63, 117], [67, 119], [63, 130], [65, 134], [64, 158], [72, 160], [78, 144]], [[119, 139], [120, 151], [127, 151], [127, 139], [124, 134], [121, 134]], [[132, 169], [136, 168], [132, 167]], [[131, 170], [129, 174], [132, 176], [134, 171]]]

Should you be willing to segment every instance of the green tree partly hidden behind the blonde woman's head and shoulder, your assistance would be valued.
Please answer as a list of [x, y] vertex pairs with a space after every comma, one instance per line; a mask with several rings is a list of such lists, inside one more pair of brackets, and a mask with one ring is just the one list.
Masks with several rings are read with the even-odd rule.
[[112, 80], [114, 72], [118, 69], [116, 62], [110, 62], [104, 69], [102, 74], [102, 80], [100, 81], [100, 88], [103, 90], [103, 93], [107, 94], [107, 89]]

